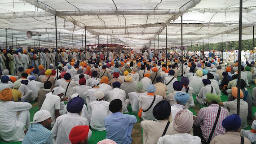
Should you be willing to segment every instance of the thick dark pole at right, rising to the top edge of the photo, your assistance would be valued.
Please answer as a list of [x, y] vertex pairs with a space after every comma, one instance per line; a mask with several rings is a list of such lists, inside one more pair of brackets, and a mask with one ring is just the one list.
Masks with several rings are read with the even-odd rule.
[[240, 0], [239, 8], [239, 42], [238, 42], [238, 95], [237, 95], [237, 114], [240, 115], [240, 89], [241, 89], [241, 51], [242, 51], [242, 11], [243, 0]]

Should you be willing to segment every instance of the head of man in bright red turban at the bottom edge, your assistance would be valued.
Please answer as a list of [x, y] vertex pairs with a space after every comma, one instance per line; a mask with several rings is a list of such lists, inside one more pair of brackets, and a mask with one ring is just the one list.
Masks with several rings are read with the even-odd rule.
[[88, 144], [88, 126], [75, 126], [69, 133], [69, 140], [72, 144]]

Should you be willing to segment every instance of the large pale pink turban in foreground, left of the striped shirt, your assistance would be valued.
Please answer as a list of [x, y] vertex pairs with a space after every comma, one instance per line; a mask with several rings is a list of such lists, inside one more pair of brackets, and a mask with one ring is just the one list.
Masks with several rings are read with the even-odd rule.
[[188, 133], [192, 129], [193, 123], [192, 113], [187, 109], [182, 109], [176, 114], [172, 126], [179, 133]]

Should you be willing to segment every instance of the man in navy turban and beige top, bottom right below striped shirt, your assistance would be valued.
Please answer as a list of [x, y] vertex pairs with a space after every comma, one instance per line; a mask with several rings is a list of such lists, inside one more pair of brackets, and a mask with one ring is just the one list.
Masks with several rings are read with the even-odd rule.
[[241, 118], [237, 114], [225, 118], [222, 126], [226, 129], [225, 135], [217, 135], [211, 144], [240, 144], [241, 139], [243, 139], [243, 144], [252, 144], [246, 137], [240, 136]]

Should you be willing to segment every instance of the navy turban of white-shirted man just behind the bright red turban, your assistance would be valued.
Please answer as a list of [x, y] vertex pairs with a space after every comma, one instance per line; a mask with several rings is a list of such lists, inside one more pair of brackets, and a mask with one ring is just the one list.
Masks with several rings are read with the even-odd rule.
[[74, 97], [67, 103], [66, 109], [70, 113], [79, 113], [84, 106], [84, 99], [81, 97]]

